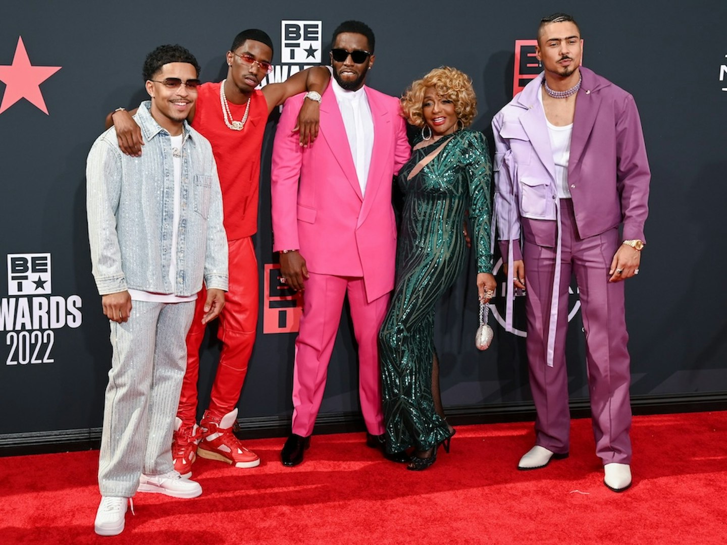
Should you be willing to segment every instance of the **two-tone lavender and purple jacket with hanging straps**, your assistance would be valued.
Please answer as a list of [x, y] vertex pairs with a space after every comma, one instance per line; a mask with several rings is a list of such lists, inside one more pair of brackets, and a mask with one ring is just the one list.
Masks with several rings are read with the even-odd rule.
[[[581, 67], [580, 71], [582, 84], [577, 94], [568, 166], [578, 233], [582, 238], [590, 237], [623, 223], [624, 239], [646, 241], [643, 225], [648, 214], [651, 173], [635, 102], [629, 93], [593, 70]], [[513, 270], [514, 260], [522, 259], [521, 218], [555, 221], [560, 215], [553, 152], [537, 97], [543, 77], [541, 73], [534, 78], [492, 120], [494, 217], [509, 270]], [[559, 230], [558, 240], [553, 242], [559, 253]], [[555, 286], [560, 281], [560, 260], [556, 263], [552, 311], [558, 309]], [[506, 329], [512, 331], [512, 281], [508, 282], [507, 296]], [[551, 318], [552, 341], [556, 321], [553, 313]], [[552, 363], [550, 352], [548, 361]]]

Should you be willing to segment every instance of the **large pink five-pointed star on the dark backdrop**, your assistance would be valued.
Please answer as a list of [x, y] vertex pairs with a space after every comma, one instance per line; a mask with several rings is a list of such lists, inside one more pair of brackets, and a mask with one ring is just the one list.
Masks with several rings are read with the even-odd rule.
[[60, 66], [33, 66], [25, 51], [23, 36], [17, 39], [15, 57], [12, 65], [0, 65], [0, 81], [6, 85], [5, 94], [0, 103], [0, 113], [10, 108], [15, 102], [24, 98], [33, 106], [48, 115], [48, 108], [43, 100], [40, 84], [46, 81], [62, 67]]

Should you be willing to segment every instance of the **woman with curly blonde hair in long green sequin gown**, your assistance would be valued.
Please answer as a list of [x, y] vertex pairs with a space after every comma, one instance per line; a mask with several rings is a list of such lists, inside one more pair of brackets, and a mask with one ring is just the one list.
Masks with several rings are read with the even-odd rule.
[[408, 469], [426, 469], [454, 429], [443, 417], [434, 347], [434, 307], [465, 262], [465, 211], [473, 225], [477, 286], [482, 301], [496, 286], [491, 275], [490, 180], [487, 143], [465, 130], [475, 117], [468, 76], [435, 68], [401, 99], [409, 123], [422, 127], [409, 163], [398, 177], [404, 195], [396, 254], [396, 281], [379, 333], [386, 446], [414, 448]]

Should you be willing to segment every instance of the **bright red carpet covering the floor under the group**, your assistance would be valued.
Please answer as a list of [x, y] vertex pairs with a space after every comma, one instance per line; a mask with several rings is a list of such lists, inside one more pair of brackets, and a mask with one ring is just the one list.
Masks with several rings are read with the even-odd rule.
[[318, 435], [298, 467], [283, 440], [250, 440], [262, 464], [200, 459], [200, 498], [137, 494], [120, 536], [100, 538], [97, 452], [0, 458], [0, 544], [725, 544], [727, 412], [634, 419], [634, 484], [603, 486], [589, 420], [571, 456], [519, 472], [530, 423], [457, 427], [448, 455], [409, 472], [364, 434]]

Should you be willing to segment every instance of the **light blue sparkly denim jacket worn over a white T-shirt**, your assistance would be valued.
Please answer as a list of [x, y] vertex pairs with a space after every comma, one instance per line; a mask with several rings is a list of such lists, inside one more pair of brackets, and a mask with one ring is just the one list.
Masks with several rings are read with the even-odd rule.
[[112, 127], [94, 142], [87, 161], [89, 243], [99, 294], [132, 288], [190, 296], [203, 278], [207, 288], [227, 291], [228, 243], [212, 146], [185, 121], [172, 285], [172, 143], [151, 116], [149, 101], [141, 103], [134, 119], [145, 142], [141, 157], [119, 150]]

